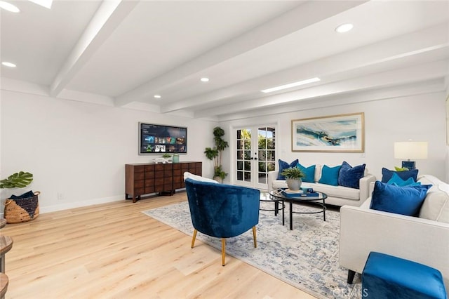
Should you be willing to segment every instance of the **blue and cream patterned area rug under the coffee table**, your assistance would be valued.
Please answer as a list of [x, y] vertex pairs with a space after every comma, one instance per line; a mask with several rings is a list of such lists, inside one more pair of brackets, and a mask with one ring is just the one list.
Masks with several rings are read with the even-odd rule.
[[[261, 203], [261, 208], [270, 208], [267, 205], [273, 204]], [[360, 278], [356, 275], [354, 284], [347, 284], [347, 270], [338, 264], [340, 213], [326, 211], [326, 222], [322, 213], [293, 214], [293, 230], [289, 230], [288, 205], [286, 209], [284, 226], [282, 215], [260, 211], [257, 248], [252, 246], [253, 232], [249, 230], [227, 239], [226, 253], [316, 298], [361, 298]], [[311, 206], [293, 205], [293, 211], [298, 209], [317, 211]], [[193, 234], [187, 201], [142, 213], [180, 232]], [[219, 238], [198, 232], [196, 239], [221, 248]]]

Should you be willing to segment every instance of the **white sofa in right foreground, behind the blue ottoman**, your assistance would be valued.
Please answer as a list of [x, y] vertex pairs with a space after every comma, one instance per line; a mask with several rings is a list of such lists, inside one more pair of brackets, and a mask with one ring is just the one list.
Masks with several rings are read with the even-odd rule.
[[360, 207], [340, 208], [340, 266], [349, 270], [348, 282], [377, 251], [436, 268], [449, 291], [449, 185], [431, 175], [418, 181], [433, 185], [420, 217], [372, 210], [370, 198]]

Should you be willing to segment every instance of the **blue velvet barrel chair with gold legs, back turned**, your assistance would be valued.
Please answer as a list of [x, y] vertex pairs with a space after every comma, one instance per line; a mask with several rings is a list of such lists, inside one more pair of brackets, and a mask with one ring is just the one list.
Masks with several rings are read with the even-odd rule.
[[222, 238], [222, 265], [225, 265], [226, 238], [236, 237], [253, 229], [254, 247], [257, 247], [255, 225], [259, 223], [260, 191], [233, 185], [185, 180], [190, 215], [194, 226], [192, 248], [196, 232]]

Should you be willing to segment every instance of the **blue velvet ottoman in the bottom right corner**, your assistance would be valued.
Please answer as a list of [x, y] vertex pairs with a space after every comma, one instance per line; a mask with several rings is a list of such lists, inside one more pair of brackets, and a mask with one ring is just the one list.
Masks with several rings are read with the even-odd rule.
[[362, 273], [362, 298], [448, 297], [438, 270], [411, 260], [371, 252]]

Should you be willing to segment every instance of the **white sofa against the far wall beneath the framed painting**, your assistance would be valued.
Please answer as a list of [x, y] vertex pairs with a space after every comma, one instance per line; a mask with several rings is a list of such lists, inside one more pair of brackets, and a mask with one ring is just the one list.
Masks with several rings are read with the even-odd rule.
[[[279, 188], [286, 188], [286, 180], [278, 180], [279, 171], [269, 171], [268, 173], [268, 191], [276, 190]], [[313, 188], [314, 191], [326, 193], [328, 198], [326, 204], [332, 204], [335, 206], [360, 206], [363, 201], [370, 196], [370, 182], [375, 182], [374, 175], [368, 173], [365, 170], [365, 176], [360, 179], [360, 189], [354, 189], [343, 186], [333, 186], [319, 183], [321, 178], [321, 165], [317, 164], [315, 167], [315, 182], [302, 182], [301, 187]]]

